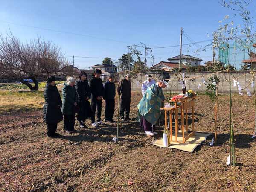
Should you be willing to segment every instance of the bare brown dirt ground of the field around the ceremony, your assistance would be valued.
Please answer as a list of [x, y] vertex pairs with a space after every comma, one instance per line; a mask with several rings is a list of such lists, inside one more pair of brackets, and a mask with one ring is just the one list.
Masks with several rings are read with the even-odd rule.
[[[131, 117], [137, 115], [140, 97], [132, 96]], [[213, 107], [207, 96], [198, 96], [198, 131], [213, 132]], [[219, 97], [218, 109], [218, 143], [209, 147], [210, 136], [192, 154], [151, 145], [163, 127], [157, 128], [157, 137], [146, 137], [135, 120], [122, 123], [119, 144], [114, 144], [116, 123], [92, 128], [87, 120], [89, 128], [83, 129], [76, 122], [79, 131], [68, 135], [61, 122], [62, 136], [53, 139], [45, 135], [41, 110], [0, 115], [0, 191], [255, 192], [253, 99], [233, 96], [236, 167], [226, 165], [228, 96]]]

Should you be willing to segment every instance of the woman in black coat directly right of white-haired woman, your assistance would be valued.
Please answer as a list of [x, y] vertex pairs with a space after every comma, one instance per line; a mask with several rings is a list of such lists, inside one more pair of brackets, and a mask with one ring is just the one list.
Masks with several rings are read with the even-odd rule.
[[86, 127], [84, 124], [85, 119], [91, 117], [91, 106], [90, 106], [90, 87], [87, 81], [87, 74], [84, 71], [79, 73], [79, 80], [76, 81], [76, 93], [78, 95], [78, 105], [80, 108], [79, 113], [77, 114], [77, 120], [80, 123], [80, 127]]

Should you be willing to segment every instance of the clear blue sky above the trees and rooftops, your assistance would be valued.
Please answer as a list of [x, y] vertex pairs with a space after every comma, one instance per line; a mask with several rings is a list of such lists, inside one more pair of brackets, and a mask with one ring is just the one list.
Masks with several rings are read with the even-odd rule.
[[[0, 5], [0, 33], [10, 27], [21, 41], [44, 36], [61, 45], [66, 56], [87, 57], [120, 57], [128, 52], [127, 45], [140, 42], [149, 47], [175, 45], [180, 27], [193, 41], [208, 40], [218, 21], [232, 15], [218, 0], [0, 0]], [[189, 41], [184, 38], [183, 43]], [[183, 54], [195, 55], [196, 49], [184, 46]], [[154, 64], [179, 55], [178, 47], [153, 51]], [[212, 52], [197, 57], [204, 63], [211, 60]], [[101, 58], [75, 58], [80, 68], [101, 63]]]

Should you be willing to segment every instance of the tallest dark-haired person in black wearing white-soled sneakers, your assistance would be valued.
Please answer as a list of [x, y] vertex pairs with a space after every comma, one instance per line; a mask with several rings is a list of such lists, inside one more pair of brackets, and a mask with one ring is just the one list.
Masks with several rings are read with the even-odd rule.
[[[97, 127], [102, 124], [101, 121], [101, 109], [102, 109], [102, 99], [104, 95], [104, 87], [102, 79], [100, 79], [101, 70], [96, 69], [94, 71], [94, 77], [90, 79], [90, 90], [91, 90], [91, 109], [92, 109], [92, 126]], [[95, 112], [97, 108], [97, 122], [95, 122]]]

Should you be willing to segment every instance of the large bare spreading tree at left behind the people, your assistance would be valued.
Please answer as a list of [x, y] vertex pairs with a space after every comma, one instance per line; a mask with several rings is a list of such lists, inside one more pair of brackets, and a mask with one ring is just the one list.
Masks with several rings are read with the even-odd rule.
[[[23, 43], [11, 32], [0, 35], [1, 76], [38, 90], [38, 79], [64, 73], [69, 62], [61, 47], [38, 37]], [[34, 86], [24, 79], [32, 79]]]

